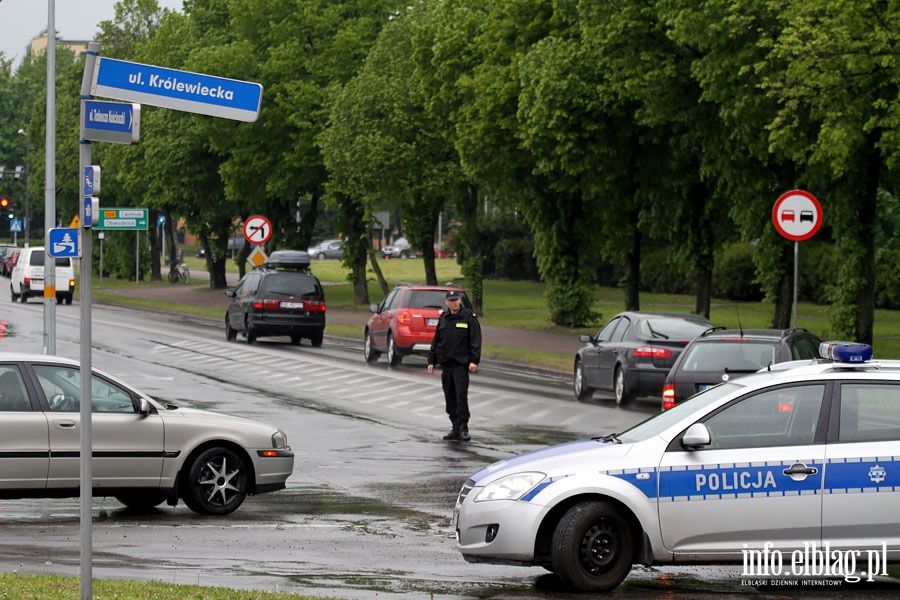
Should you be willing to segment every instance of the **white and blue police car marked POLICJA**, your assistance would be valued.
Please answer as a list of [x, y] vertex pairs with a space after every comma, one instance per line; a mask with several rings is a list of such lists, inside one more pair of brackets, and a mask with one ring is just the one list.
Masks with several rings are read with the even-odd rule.
[[900, 560], [900, 361], [862, 344], [821, 353], [482, 469], [456, 501], [457, 549], [594, 592], [633, 564], [740, 563], [748, 549]]

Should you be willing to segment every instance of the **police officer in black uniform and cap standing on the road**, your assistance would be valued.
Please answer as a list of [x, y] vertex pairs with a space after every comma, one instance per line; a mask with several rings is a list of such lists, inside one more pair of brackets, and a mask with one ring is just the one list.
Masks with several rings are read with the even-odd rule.
[[428, 352], [428, 373], [434, 373], [434, 365], [441, 365], [447, 415], [453, 423], [444, 439], [468, 442], [469, 373], [475, 373], [481, 361], [481, 325], [475, 313], [462, 306], [461, 294], [460, 290], [447, 292], [448, 310], [438, 319]]

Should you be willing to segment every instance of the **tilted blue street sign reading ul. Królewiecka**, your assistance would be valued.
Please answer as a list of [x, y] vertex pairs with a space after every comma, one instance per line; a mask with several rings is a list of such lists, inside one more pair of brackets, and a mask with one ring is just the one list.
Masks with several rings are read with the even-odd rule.
[[252, 122], [262, 85], [100, 57], [91, 95]]

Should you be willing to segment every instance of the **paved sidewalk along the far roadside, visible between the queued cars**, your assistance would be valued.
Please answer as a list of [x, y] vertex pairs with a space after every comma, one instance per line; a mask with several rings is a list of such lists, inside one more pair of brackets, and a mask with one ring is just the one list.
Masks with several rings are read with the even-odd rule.
[[[228, 307], [229, 302], [225, 291], [211, 290], [205, 287], [205, 281], [208, 281], [209, 278], [206, 273], [192, 272], [191, 277], [191, 283], [188, 285], [146, 286], [137, 290], [107, 290], [107, 293], [187, 306], [219, 308], [224, 318], [225, 309]], [[236, 276], [235, 281], [232, 282], [229, 279], [229, 283], [235, 285], [237, 283]], [[329, 307], [326, 320], [328, 323], [336, 325], [359, 327], [358, 339], [362, 343], [363, 328], [369, 320], [369, 312], [364, 309]], [[575, 353], [582, 346], [581, 342], [578, 341], [578, 336], [568, 332], [508, 329], [493, 327], [484, 323], [482, 323], [482, 332], [486, 345], [520, 350], [540, 350], [541, 352], [559, 354], [573, 359]]]

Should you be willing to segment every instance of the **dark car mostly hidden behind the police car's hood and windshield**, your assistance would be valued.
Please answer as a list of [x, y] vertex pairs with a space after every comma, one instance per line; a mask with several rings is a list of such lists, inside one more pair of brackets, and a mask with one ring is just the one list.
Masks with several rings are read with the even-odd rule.
[[663, 386], [663, 410], [708, 387], [789, 360], [819, 356], [816, 335], [806, 329], [714, 329], [688, 344]]

